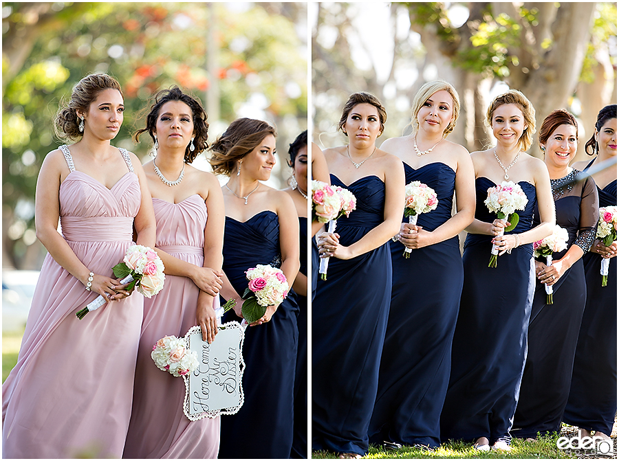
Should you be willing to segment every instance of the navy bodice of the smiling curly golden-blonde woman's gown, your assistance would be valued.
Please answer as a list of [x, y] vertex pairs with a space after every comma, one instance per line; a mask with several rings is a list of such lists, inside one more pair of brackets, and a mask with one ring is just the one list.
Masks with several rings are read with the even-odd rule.
[[[495, 187], [495, 185], [497, 184], [483, 176], [475, 179], [475, 219], [483, 221], [484, 223], [492, 223], [492, 221], [495, 221], [497, 218], [497, 215], [495, 213], [491, 213], [484, 203], [484, 201], [488, 198], [488, 189]], [[527, 181], [520, 181], [519, 185], [529, 201], [527, 202], [524, 210], [516, 210], [520, 221], [518, 221], [518, 224], [514, 229], [506, 232], [506, 234], [521, 234], [522, 232], [526, 232], [531, 229], [533, 224], [533, 212], [537, 203], [535, 186]], [[466, 248], [469, 245], [477, 245], [479, 243], [488, 243], [488, 245], [490, 245], [491, 240], [492, 236], [490, 235], [468, 234], [464, 242], [464, 247]], [[513, 251], [523, 251], [523, 249], [528, 251], [529, 254], [533, 254], [532, 245], [521, 245], [514, 248]], [[488, 249], [488, 255], [490, 255], [490, 249]], [[488, 258], [490, 258], [490, 256], [488, 256]]]

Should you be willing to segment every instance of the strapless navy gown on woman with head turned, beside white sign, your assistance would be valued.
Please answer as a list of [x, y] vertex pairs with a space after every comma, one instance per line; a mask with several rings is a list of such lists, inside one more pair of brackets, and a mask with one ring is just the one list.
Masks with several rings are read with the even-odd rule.
[[[237, 293], [247, 288], [245, 271], [258, 264], [281, 264], [278, 216], [263, 211], [244, 223], [226, 216], [223, 269]], [[270, 322], [245, 330], [245, 403], [237, 414], [221, 417], [219, 458], [290, 457], [297, 315], [290, 295]], [[224, 323], [231, 320], [240, 320], [232, 310]]]

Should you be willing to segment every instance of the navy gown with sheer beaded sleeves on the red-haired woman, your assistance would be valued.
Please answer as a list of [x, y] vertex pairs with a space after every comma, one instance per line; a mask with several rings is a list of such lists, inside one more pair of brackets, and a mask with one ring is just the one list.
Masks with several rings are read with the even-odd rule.
[[[578, 245], [587, 254], [598, 221], [596, 185], [588, 178], [557, 189], [562, 181], [574, 180], [577, 172], [572, 170], [567, 177], [551, 179], [550, 183], [554, 191], [556, 223], [566, 229], [569, 236], [567, 249]], [[537, 210], [533, 223], [539, 224]], [[552, 260], [563, 258], [567, 249], [553, 254]], [[546, 262], [545, 256], [538, 260]], [[529, 321], [527, 363], [512, 427], [512, 436], [518, 438], [561, 432], [578, 330], [585, 310], [587, 289], [583, 259], [574, 262], [552, 287], [553, 304], [546, 304], [545, 285], [536, 282]]]

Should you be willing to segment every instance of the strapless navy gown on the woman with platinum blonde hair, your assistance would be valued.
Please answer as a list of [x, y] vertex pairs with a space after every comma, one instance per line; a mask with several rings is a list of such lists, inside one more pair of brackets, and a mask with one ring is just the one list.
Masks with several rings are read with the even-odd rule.
[[[455, 172], [442, 163], [418, 170], [404, 164], [406, 183], [421, 181], [435, 190], [436, 210], [417, 224], [433, 231], [451, 217]], [[402, 222], [408, 223], [409, 218]], [[439, 419], [451, 368], [451, 342], [458, 315], [464, 269], [459, 240], [413, 249], [391, 242], [393, 287], [382, 349], [371, 442], [440, 445]]]

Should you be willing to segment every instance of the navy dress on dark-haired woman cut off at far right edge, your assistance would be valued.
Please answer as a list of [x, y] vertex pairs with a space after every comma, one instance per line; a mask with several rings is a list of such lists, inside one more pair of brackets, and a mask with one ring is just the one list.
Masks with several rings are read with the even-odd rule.
[[[617, 180], [598, 188], [598, 196], [600, 207], [617, 205]], [[617, 412], [617, 258], [610, 260], [607, 286], [600, 275], [602, 256], [589, 252], [583, 262], [587, 304], [563, 421], [610, 435]]]

